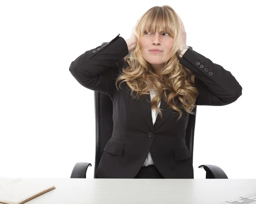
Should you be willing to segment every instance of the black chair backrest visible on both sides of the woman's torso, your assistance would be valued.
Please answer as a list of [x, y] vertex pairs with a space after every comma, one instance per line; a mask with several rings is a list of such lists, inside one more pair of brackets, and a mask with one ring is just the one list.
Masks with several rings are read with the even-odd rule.
[[[103, 154], [103, 149], [110, 140], [113, 132], [113, 103], [111, 98], [100, 92], [94, 92], [95, 103], [95, 122], [96, 122], [96, 153], [95, 153], [95, 166], [94, 166], [94, 178], [98, 178], [96, 175], [96, 169], [99, 165], [99, 161]], [[195, 106], [194, 112], [196, 113]], [[191, 154], [193, 162], [193, 147], [194, 147], [194, 132], [195, 132], [195, 117], [196, 115], [189, 114], [189, 121], [186, 127], [186, 146]]]

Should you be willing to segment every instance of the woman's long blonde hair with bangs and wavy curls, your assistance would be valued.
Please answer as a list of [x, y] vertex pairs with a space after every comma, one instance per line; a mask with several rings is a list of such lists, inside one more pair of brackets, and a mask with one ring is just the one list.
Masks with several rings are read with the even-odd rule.
[[[174, 39], [172, 50], [159, 76], [154, 73], [151, 64], [143, 59], [141, 52], [140, 37], [147, 32], [158, 32], [160, 28], [168, 32]], [[176, 52], [180, 45], [180, 27], [177, 14], [170, 6], [154, 6], [137, 21], [134, 27], [134, 33], [137, 38], [136, 48], [124, 57], [128, 63], [127, 67], [123, 67], [122, 73], [116, 79], [116, 88], [119, 81], [126, 82], [131, 88], [131, 96], [133, 92], [137, 92], [135, 97], [140, 98], [142, 95], [150, 94], [149, 90], [154, 89], [156, 96], [151, 101], [151, 107], [156, 109], [162, 118], [162, 109], [157, 104], [162, 98], [166, 100], [169, 107], [175, 109], [182, 116], [180, 109], [186, 110], [190, 114], [195, 114], [192, 109], [195, 107], [195, 100], [198, 91], [195, 85], [195, 75], [179, 63]], [[169, 93], [169, 94], [168, 94]], [[181, 106], [178, 106], [175, 99], [179, 99]]]

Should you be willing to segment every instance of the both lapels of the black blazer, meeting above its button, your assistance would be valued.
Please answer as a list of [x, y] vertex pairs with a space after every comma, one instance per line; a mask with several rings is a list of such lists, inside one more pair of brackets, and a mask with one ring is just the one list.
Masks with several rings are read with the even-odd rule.
[[163, 110], [163, 119], [161, 119], [160, 115], [157, 114], [157, 119], [153, 126], [150, 95], [143, 95], [140, 99], [136, 100], [136, 103], [140, 109], [140, 113], [143, 116], [145, 123], [153, 132], [160, 128], [160, 126], [163, 125], [163, 123], [169, 118], [169, 116], [174, 111], [174, 109], [172, 108], [168, 109], [167, 102], [163, 98], [161, 98], [160, 109]]

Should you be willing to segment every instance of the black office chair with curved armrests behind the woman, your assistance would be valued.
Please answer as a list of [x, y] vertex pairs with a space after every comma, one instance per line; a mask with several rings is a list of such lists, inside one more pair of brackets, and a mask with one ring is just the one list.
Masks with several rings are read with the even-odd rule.
[[[102, 45], [105, 43], [102, 43]], [[192, 47], [190, 47], [192, 49]], [[108, 95], [100, 92], [94, 92], [95, 118], [96, 118], [96, 153], [94, 178], [98, 178], [96, 170], [99, 161], [103, 154], [103, 149], [111, 138], [113, 131], [113, 103]], [[196, 113], [197, 106], [195, 106]], [[189, 114], [189, 122], [186, 128], [186, 146], [191, 154], [193, 163], [193, 148], [194, 148], [194, 132], [195, 132], [196, 115]], [[79, 162], [73, 168], [70, 178], [86, 178], [87, 168], [92, 165], [87, 162]], [[225, 172], [215, 165], [201, 165], [198, 168], [204, 168], [206, 178], [227, 178]]]

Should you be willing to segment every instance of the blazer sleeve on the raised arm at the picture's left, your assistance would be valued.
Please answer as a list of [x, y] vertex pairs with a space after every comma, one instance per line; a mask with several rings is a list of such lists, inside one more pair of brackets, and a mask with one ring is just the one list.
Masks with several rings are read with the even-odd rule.
[[116, 78], [128, 46], [119, 34], [105, 45], [97, 46], [76, 58], [69, 71], [87, 89], [111, 96], [116, 89]]

